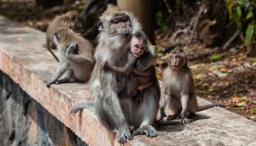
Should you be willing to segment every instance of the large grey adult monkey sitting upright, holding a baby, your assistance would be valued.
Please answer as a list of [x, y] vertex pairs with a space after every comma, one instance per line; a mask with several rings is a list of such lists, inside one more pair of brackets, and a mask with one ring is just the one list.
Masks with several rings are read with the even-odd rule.
[[[106, 72], [100, 66], [101, 62], [113, 66], [127, 64], [130, 38], [141, 30], [140, 23], [129, 12], [113, 5], [108, 5], [99, 19], [99, 44], [94, 54], [96, 64], [90, 80], [97, 117], [106, 128], [116, 132], [120, 143], [132, 139], [131, 126], [138, 128], [134, 134], [157, 137], [157, 131], [152, 126], [159, 108], [157, 77], [154, 76], [152, 85], [143, 90], [143, 101], [135, 104], [132, 98], [118, 96], [118, 91], [127, 84], [122, 80], [124, 74]], [[154, 63], [154, 47], [148, 45], [147, 48], [136, 61], [135, 69], [138, 71], [148, 69]], [[76, 110], [72, 108], [72, 111]]]

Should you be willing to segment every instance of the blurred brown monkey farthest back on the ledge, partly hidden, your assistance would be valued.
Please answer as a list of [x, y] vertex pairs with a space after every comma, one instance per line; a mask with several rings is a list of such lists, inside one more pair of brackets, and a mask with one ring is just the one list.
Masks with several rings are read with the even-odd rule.
[[69, 11], [63, 15], [57, 16], [47, 28], [46, 42], [49, 49], [56, 49], [53, 41], [54, 33], [60, 27], [67, 27], [74, 29], [75, 24], [78, 23], [78, 11]]

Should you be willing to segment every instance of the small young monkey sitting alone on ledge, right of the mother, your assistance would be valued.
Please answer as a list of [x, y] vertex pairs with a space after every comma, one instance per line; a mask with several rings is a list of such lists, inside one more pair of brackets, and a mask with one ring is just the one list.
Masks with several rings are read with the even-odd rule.
[[195, 117], [195, 112], [215, 106], [223, 106], [220, 103], [197, 105], [192, 72], [187, 66], [187, 56], [180, 47], [170, 51], [168, 65], [162, 75], [163, 98], [160, 103], [160, 121], [166, 117], [165, 107], [168, 100], [170, 100], [170, 110], [174, 112], [174, 115], [168, 116], [167, 120], [181, 116], [181, 123], [189, 123], [188, 112], [189, 116]]

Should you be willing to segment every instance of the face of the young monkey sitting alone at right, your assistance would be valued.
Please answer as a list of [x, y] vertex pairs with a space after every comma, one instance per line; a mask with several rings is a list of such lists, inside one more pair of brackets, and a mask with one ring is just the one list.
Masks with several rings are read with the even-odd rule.
[[168, 57], [170, 69], [179, 70], [184, 66], [184, 56], [180, 54], [170, 54]]

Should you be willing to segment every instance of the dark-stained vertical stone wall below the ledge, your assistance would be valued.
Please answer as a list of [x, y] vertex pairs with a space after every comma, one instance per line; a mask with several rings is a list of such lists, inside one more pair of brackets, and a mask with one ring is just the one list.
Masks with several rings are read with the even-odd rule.
[[0, 145], [86, 145], [0, 71]]

